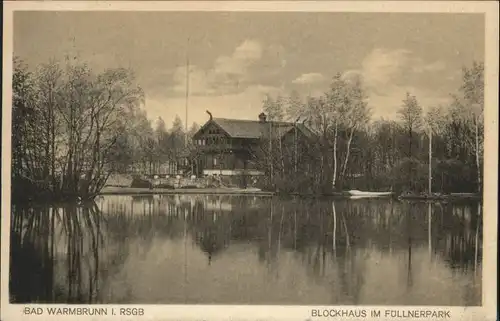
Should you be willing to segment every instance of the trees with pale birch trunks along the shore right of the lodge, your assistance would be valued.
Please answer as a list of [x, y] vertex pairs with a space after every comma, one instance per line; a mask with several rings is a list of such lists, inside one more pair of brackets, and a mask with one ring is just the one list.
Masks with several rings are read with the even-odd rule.
[[[270, 120], [299, 120], [317, 134], [313, 142], [300, 145], [298, 152], [267, 149], [269, 188], [312, 193], [351, 188], [423, 193], [429, 190], [430, 163], [432, 192], [480, 193], [483, 73], [482, 63], [464, 67], [461, 85], [450, 94], [449, 104], [425, 106], [425, 112], [418, 97], [407, 93], [401, 97], [394, 120], [374, 120], [362, 78], [346, 78], [340, 73], [320, 96], [304, 98], [297, 92], [288, 97], [267, 96], [263, 109]], [[277, 140], [274, 146], [280, 144]], [[286, 161], [294, 157], [302, 157], [298, 170]]]

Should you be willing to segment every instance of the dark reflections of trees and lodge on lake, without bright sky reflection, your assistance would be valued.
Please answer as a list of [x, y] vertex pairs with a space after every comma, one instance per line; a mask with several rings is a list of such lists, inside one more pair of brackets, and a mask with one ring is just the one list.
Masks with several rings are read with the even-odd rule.
[[[468, 286], [481, 286], [480, 204], [106, 196], [83, 206], [16, 206], [11, 222], [10, 294], [19, 303], [132, 303], [134, 284], [121, 282], [118, 298], [119, 291], [108, 289], [111, 280], [131, 253], [138, 253], [134, 260], [144, 260], [158, 240], [183, 244], [182, 257], [173, 259], [184, 266], [186, 302], [189, 253], [198, 249], [205, 253], [206, 268], [220, 269], [214, 262], [233, 255], [229, 249], [240, 245], [255, 249], [267, 282], [299, 281], [283, 272], [293, 264], [314, 283], [331, 287], [332, 303], [369, 304], [362, 294], [371, 286], [373, 264], [389, 258], [395, 270], [405, 270], [407, 291], [412, 291], [416, 276], [425, 273], [426, 265], [415, 256], [419, 249], [428, 253], [429, 262], [444, 260], [451, 270], [470, 270], [477, 283]], [[465, 298], [471, 304], [478, 300]]]

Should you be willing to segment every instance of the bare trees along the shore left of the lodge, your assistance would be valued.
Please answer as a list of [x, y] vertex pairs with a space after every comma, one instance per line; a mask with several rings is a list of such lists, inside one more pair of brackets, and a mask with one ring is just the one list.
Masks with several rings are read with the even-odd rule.
[[169, 131], [162, 119], [153, 129], [131, 70], [94, 72], [70, 59], [13, 63], [14, 201], [92, 198], [111, 173], [151, 172], [186, 148], [179, 117]]

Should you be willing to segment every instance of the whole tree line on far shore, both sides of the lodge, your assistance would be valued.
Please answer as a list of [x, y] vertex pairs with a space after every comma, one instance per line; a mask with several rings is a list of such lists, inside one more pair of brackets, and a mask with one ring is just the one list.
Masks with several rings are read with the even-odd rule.
[[[316, 135], [307, 143], [263, 144], [266, 187], [422, 192], [432, 138], [432, 191], [481, 192], [483, 72], [482, 63], [463, 68], [449, 105], [426, 106], [426, 113], [408, 93], [396, 120], [373, 120], [362, 79], [342, 74], [320, 96], [268, 96], [268, 119], [300, 121]], [[167, 130], [161, 118], [147, 118], [130, 70], [95, 72], [69, 59], [33, 69], [15, 58], [12, 80], [13, 200], [92, 198], [113, 172], [155, 173], [196, 149], [197, 124], [186, 130], [176, 117]]]

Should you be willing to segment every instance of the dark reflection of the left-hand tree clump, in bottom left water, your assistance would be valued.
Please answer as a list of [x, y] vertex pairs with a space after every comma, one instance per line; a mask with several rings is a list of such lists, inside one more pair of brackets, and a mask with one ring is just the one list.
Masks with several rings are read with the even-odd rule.
[[16, 206], [12, 213], [11, 302], [93, 302], [103, 242], [95, 203]]

